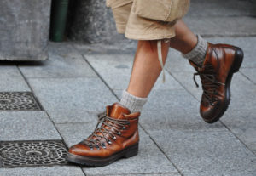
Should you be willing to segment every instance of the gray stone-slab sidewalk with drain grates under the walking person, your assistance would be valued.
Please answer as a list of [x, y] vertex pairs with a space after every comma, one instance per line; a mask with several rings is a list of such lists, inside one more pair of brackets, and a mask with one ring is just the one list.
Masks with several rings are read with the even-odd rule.
[[[253, 11], [227, 12], [225, 18], [238, 13], [236, 18], [247, 19], [246, 26], [255, 22]], [[85, 139], [97, 114], [119, 100], [129, 82], [135, 45], [49, 43], [47, 61], [1, 62], [0, 176], [255, 176], [254, 28], [219, 37], [212, 26], [203, 28], [208, 33], [190, 26], [212, 43], [234, 44], [245, 52], [231, 83], [230, 107], [219, 122], [201, 119], [195, 71], [171, 49], [166, 83], [160, 76], [140, 118], [139, 154], [107, 167], [73, 166], [65, 162], [67, 147]]]

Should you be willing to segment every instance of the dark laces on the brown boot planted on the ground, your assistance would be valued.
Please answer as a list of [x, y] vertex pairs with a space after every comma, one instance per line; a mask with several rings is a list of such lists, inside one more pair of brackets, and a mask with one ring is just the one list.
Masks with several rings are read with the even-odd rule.
[[[102, 125], [100, 126], [100, 124]], [[130, 122], [128, 120], [114, 119], [110, 116], [107, 116], [106, 112], [101, 113], [98, 116], [98, 122], [96, 124], [94, 132], [91, 133], [90, 136], [87, 139], [84, 139], [81, 143], [88, 145], [91, 150], [93, 149], [93, 147], [99, 149], [100, 145], [102, 146], [102, 148], [106, 148], [105, 142], [102, 142], [101, 139], [105, 139], [105, 141], [109, 145], [111, 145], [112, 141], [107, 137], [107, 135], [111, 139], [115, 140], [115, 135], [121, 135], [119, 129], [125, 129], [125, 125], [129, 124]]]

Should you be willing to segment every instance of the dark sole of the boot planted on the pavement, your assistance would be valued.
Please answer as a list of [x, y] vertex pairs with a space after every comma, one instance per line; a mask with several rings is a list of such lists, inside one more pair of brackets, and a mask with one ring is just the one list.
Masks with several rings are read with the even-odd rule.
[[129, 158], [132, 156], [137, 156], [138, 153], [138, 144], [132, 145], [125, 150], [121, 150], [113, 156], [99, 158], [99, 157], [87, 157], [87, 156], [77, 156], [72, 153], [67, 153], [67, 161], [73, 162], [79, 165], [87, 166], [87, 167], [103, 167], [111, 164], [120, 158]]

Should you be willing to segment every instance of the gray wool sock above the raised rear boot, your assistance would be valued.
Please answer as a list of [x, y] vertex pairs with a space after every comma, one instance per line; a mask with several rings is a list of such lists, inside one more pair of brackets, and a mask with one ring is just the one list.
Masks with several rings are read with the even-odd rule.
[[202, 66], [207, 54], [208, 43], [200, 35], [197, 35], [197, 44], [188, 54], [183, 54], [183, 57], [193, 61], [196, 65]]

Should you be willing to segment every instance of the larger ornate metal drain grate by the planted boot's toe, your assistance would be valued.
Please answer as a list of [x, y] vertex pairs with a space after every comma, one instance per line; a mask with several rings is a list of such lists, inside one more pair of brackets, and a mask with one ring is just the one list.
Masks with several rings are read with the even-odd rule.
[[0, 142], [0, 167], [36, 167], [67, 164], [62, 141]]

